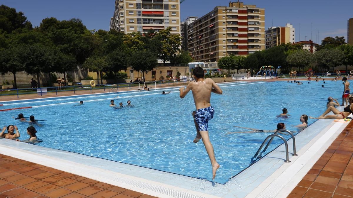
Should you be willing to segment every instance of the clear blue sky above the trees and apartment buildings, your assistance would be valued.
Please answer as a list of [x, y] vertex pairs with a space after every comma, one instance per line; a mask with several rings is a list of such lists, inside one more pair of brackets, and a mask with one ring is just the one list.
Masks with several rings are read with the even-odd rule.
[[[114, 13], [114, 0], [0, 0], [0, 4], [24, 12], [34, 26], [43, 18], [59, 20], [79, 18], [88, 29], [109, 29], [110, 17]], [[327, 36], [347, 37], [347, 20], [353, 18], [353, 0], [243, 0], [244, 4], [255, 4], [265, 8], [265, 28], [293, 24], [295, 41], [312, 38], [319, 43]], [[226, 6], [229, 0], [185, 0], [180, 7], [181, 19], [188, 16], [201, 17], [216, 6]], [[312, 24], [312, 25], [311, 25]], [[312, 26], [312, 27], [311, 27]], [[312, 33], [311, 33], [312, 32]]]

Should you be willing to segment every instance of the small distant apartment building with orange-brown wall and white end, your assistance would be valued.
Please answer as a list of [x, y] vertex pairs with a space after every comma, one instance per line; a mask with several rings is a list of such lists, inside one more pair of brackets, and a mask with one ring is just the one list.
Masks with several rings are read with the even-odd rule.
[[287, 23], [285, 27], [269, 27], [265, 31], [265, 48], [270, 49], [281, 43], [294, 43], [295, 29], [292, 24]]

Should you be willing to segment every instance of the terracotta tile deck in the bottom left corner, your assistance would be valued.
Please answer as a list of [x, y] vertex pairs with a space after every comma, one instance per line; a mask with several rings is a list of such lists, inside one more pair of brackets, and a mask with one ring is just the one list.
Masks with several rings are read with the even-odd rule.
[[153, 198], [7, 155], [0, 157], [0, 198]]

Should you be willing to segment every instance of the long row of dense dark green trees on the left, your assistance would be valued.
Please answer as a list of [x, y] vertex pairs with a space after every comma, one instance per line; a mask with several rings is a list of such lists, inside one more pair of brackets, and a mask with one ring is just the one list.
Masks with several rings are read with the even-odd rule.
[[180, 35], [171, 34], [170, 28], [125, 35], [88, 30], [75, 18], [46, 18], [39, 27], [32, 28], [22, 12], [5, 5], [0, 6], [0, 19], [0, 72], [13, 74], [14, 88], [16, 73], [21, 71], [36, 74], [40, 85], [40, 73], [47, 73], [50, 83], [50, 73], [64, 73], [66, 79], [66, 72], [78, 66], [97, 72], [97, 76], [105, 72], [116, 77], [128, 66], [136, 71], [152, 70], [157, 58], [172, 63], [191, 61], [187, 52], [175, 54], [181, 44]]

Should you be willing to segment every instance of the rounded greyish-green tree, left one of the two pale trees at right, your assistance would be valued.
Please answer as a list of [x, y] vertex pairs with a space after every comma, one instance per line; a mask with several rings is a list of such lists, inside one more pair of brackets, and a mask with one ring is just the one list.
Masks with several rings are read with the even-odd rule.
[[313, 62], [313, 55], [307, 50], [295, 50], [287, 56], [287, 62], [292, 67], [302, 68]]

